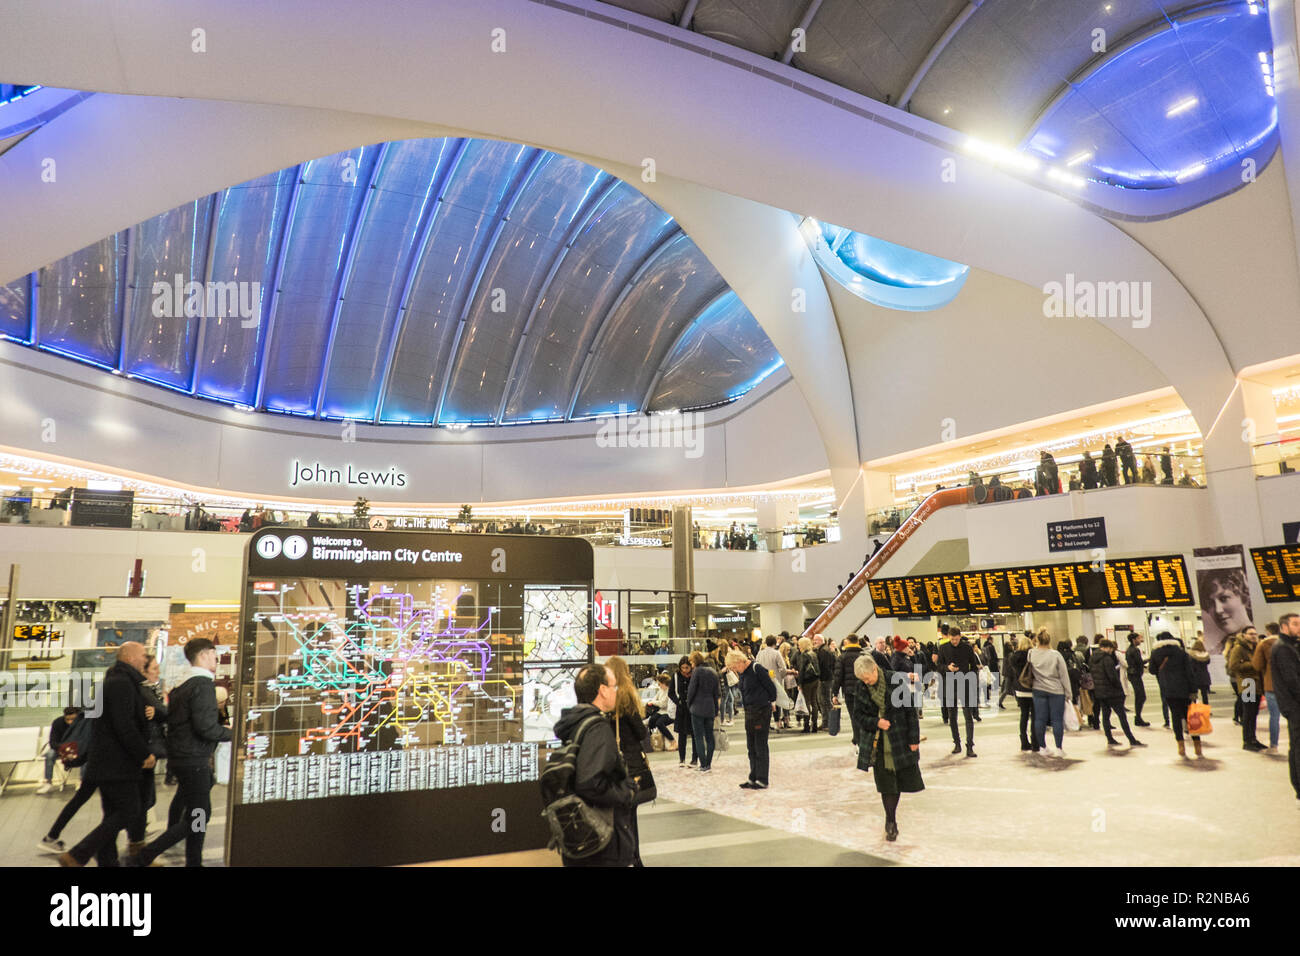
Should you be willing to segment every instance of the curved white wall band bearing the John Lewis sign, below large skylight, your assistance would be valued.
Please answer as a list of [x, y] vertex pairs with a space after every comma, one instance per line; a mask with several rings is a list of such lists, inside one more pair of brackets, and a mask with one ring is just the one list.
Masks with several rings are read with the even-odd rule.
[[[798, 388], [774, 375], [698, 416], [686, 447], [602, 447], [601, 423], [448, 432], [242, 412], [0, 342], [0, 445], [250, 497], [459, 503], [757, 485], [827, 468]], [[662, 419], [659, 421], [663, 421]], [[47, 441], [47, 438], [53, 438]], [[404, 472], [404, 488], [290, 485], [294, 460]]]

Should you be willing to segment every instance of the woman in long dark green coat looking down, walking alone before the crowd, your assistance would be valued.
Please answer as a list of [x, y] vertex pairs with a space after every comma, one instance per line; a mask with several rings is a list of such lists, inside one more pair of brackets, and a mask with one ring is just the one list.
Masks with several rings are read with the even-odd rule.
[[863, 687], [854, 698], [861, 747], [858, 770], [874, 770], [885, 808], [885, 839], [898, 839], [898, 799], [926, 788], [920, 779], [920, 722], [907, 675], [880, 667], [870, 654], [853, 662]]

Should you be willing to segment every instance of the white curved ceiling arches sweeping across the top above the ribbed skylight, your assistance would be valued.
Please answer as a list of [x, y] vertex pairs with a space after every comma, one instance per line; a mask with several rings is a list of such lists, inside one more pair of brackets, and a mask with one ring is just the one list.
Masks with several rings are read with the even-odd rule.
[[[0, 235], [0, 281], [192, 198], [192, 193], [179, 195], [186, 189], [182, 181], [192, 190], [203, 179], [200, 191], [211, 191], [312, 155], [373, 142], [376, 134], [367, 130], [384, 127], [384, 138], [434, 135], [438, 127], [420, 122], [429, 121], [602, 157], [633, 170], [653, 165], [660, 181], [693, 181], [826, 217], [1036, 289], [1070, 276], [1149, 282], [1149, 324], [1139, 320], [1135, 326], [1131, 316], [1098, 321], [1170, 377], [1202, 428], [1232, 389], [1232, 368], [1216, 329], [1178, 277], [1143, 246], [1078, 204], [922, 139], [915, 134], [936, 130], [915, 117], [870, 103], [853, 116], [758, 75], [744, 62], [673, 51], [625, 29], [525, 0], [472, 7], [445, 1], [420, 9], [390, 0], [369, 5], [360, 18], [341, 0], [269, 9], [237, 0], [205, 10], [204, 20], [208, 52], [195, 53], [178, 40], [194, 29], [192, 16], [183, 10], [160, 1], [124, 9], [83, 0], [29, 16], [21, 33], [0, 38], [0, 62], [29, 82], [274, 101], [402, 120], [372, 126], [360, 117], [341, 117], [335, 125], [332, 117], [330, 129], [311, 129], [303, 113], [277, 117], [278, 111], [230, 103], [191, 101], [182, 109], [173, 101], [161, 111], [121, 107], [96, 122], [117, 125], [129, 116], [179, 135], [176, 142], [202, 144], [183, 165], [202, 164], [203, 174], [177, 176], [161, 168], [165, 160], [156, 152], [131, 156], [129, 147], [126, 159], [116, 161], [101, 148], [114, 139], [112, 130], [95, 129], [87, 117], [88, 129], [81, 135], [47, 140], [58, 144], [79, 176], [65, 179], [69, 191], [44, 194], [32, 190], [29, 178], [31, 164], [40, 160], [31, 138], [0, 157], [5, 172], [0, 206], [16, 211], [10, 222], [20, 226]], [[347, 31], [337, 29], [343, 22]], [[504, 52], [493, 52], [494, 30], [504, 31], [497, 34], [504, 36]], [[112, 62], [101, 55], [104, 36], [117, 44]], [[402, 62], [403, 70], [382, 83], [360, 82], [378, 61]], [[647, 77], [654, 78], [653, 96], [646, 95]], [[222, 113], [238, 116], [235, 125], [243, 129], [250, 122], [263, 126], [266, 142], [226, 135]], [[296, 135], [277, 129], [281, 120]], [[333, 142], [322, 146], [322, 140]], [[94, 164], [84, 156], [88, 151]], [[214, 153], [211, 161], [205, 152]], [[23, 166], [21, 182], [10, 160]], [[118, 190], [112, 212], [95, 211], [99, 232], [90, 232], [82, 200], [101, 198], [109, 182], [124, 185], [126, 199]], [[645, 185], [653, 198], [654, 185]], [[685, 215], [675, 215], [686, 224]], [[718, 263], [710, 243], [693, 234]], [[728, 277], [722, 265], [719, 271]], [[763, 321], [754, 303], [746, 304]], [[792, 372], [798, 380], [793, 367]], [[802, 381], [801, 388], [806, 388]]]

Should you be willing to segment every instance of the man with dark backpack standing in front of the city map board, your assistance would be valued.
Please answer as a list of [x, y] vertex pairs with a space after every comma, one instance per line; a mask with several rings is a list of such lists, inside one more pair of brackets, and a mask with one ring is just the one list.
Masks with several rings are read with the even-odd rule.
[[[582, 805], [577, 806], [576, 817], [559, 821], [564, 836], [558, 836], [552, 842], [560, 851], [566, 866], [632, 866], [638, 856], [637, 836], [632, 829], [636, 788], [628, 778], [627, 766], [623, 763], [614, 736], [614, 724], [608, 718], [614, 711], [618, 691], [619, 682], [612, 671], [604, 665], [588, 665], [578, 671], [573, 682], [577, 706], [560, 711], [560, 719], [552, 731], [564, 743], [564, 748], [552, 756], [542, 774], [543, 799], [552, 797], [547, 801], [547, 816], [555, 816], [551, 812], [552, 805], [562, 800], [575, 806], [573, 797], [577, 797], [577, 803]], [[566, 749], [567, 753], [563, 752]], [[564, 766], [566, 761], [556, 761], [556, 756], [567, 758], [571, 763]], [[568, 767], [572, 769], [571, 777], [567, 773]], [[549, 777], [563, 779], [551, 784], [549, 791], [547, 784], [551, 783]], [[589, 852], [593, 838], [586, 831], [590, 829], [589, 818], [593, 813], [603, 819], [608, 836], [595, 838], [594, 843], [601, 845]], [[551, 825], [554, 832], [556, 821], [552, 819]], [[599, 823], [597, 829], [601, 829]], [[575, 838], [572, 840], [571, 834]], [[573, 852], [584, 855], [575, 856]]]

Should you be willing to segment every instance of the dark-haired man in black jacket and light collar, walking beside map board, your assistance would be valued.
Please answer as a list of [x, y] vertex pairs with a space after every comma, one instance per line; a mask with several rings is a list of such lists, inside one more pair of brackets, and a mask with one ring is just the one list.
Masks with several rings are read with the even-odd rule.
[[165, 849], [185, 840], [185, 865], [203, 866], [203, 838], [212, 818], [212, 753], [230, 740], [230, 728], [217, 717], [217, 648], [207, 637], [185, 645], [190, 676], [172, 691], [166, 718], [168, 770], [176, 775], [177, 791], [165, 832], [130, 857], [129, 862], [148, 866]]

